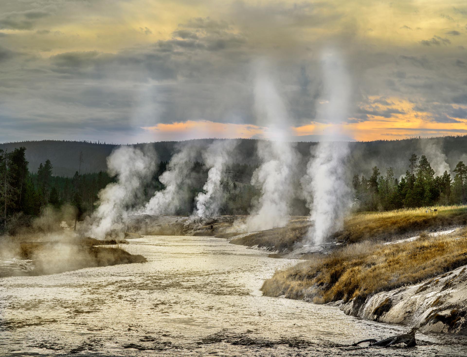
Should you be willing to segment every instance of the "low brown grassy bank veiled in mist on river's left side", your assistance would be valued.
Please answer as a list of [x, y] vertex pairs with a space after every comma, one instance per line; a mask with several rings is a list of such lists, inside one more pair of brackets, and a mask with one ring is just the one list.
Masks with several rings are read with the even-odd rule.
[[126, 241], [76, 236], [21, 235], [1, 237], [0, 251], [4, 259], [32, 260], [34, 269], [1, 269], [0, 276], [41, 275], [62, 273], [86, 267], [111, 266], [146, 262], [142, 255], [125, 251], [122, 244]]

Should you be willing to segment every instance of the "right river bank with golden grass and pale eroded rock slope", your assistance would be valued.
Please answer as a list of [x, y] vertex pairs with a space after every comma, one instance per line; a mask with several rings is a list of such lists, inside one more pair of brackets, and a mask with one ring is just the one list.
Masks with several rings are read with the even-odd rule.
[[[363, 231], [377, 232], [395, 217], [405, 216], [406, 222], [413, 223], [419, 212], [353, 217], [344, 228], [354, 235], [347, 238], [347, 244], [342, 242], [324, 253], [317, 249], [302, 254], [302, 262], [277, 271], [264, 282], [263, 294], [331, 304], [348, 315], [417, 326], [426, 332], [465, 335], [467, 229], [443, 231], [463, 223], [462, 210], [465, 208], [447, 208], [442, 218], [436, 213], [434, 217], [422, 216], [425, 227], [432, 222], [442, 224], [432, 226], [432, 233], [422, 231], [409, 238], [405, 238], [407, 234], [388, 236], [389, 241], [381, 239], [384, 232], [367, 240], [358, 237]], [[446, 219], [451, 213], [453, 219]], [[368, 222], [368, 217], [374, 219]], [[348, 224], [365, 220], [363, 225]], [[401, 222], [394, 229], [400, 231], [400, 227]]]

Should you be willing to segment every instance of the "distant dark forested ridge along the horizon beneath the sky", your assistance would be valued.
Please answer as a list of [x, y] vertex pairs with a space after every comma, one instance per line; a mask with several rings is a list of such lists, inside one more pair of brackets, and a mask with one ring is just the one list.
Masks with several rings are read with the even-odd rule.
[[[157, 153], [158, 161], [170, 161], [180, 145], [187, 143], [207, 146], [215, 139], [198, 139], [186, 141], [159, 141], [136, 144], [135, 147], [149, 145]], [[233, 152], [232, 160], [237, 163], [258, 164], [256, 154], [258, 139], [238, 139], [239, 145]], [[317, 142], [294, 143], [297, 152], [301, 154], [301, 166], [306, 167], [310, 151]], [[106, 158], [112, 150], [120, 145], [93, 143], [89, 141], [20, 141], [0, 144], [1, 149], [13, 150], [15, 147], [26, 147], [26, 158], [29, 169], [36, 172], [39, 164], [50, 159], [54, 175], [72, 176], [79, 169], [79, 155], [83, 153], [81, 173], [105, 171]], [[351, 150], [348, 167], [352, 174], [369, 175], [371, 167], [377, 166], [382, 172], [392, 167], [396, 177], [405, 174], [411, 154], [426, 155], [433, 164], [445, 161], [451, 170], [458, 161], [467, 162], [467, 136], [446, 136], [436, 138], [411, 138], [403, 140], [375, 140], [349, 142]], [[446, 155], [446, 156], [444, 156]], [[199, 157], [202, 161], [202, 157]], [[435, 170], [436, 168], [433, 167]]]

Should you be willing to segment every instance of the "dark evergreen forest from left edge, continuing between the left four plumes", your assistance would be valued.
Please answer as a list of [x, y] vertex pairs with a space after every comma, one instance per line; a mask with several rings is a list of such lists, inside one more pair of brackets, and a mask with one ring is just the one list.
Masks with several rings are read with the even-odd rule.
[[[104, 171], [86, 174], [76, 171], [73, 177], [53, 175], [53, 164], [49, 159], [40, 163], [36, 173], [31, 173], [25, 153], [25, 147], [12, 151], [0, 149], [0, 233], [11, 231], [18, 225], [28, 225], [30, 218], [41, 215], [47, 207], [58, 209], [69, 204], [76, 211], [76, 219], [92, 215], [99, 191], [108, 183], [115, 182], [115, 178]], [[152, 180], [141, 187], [147, 201], [155, 191], [164, 188], [159, 176], [167, 169], [168, 163], [161, 161]], [[257, 190], [247, 182], [256, 168], [257, 165], [248, 164], [233, 164], [228, 168], [231, 179], [222, 182], [225, 192], [220, 207], [222, 214], [248, 213]], [[201, 162], [193, 163], [192, 171], [193, 174], [207, 175]], [[202, 191], [202, 186], [201, 183], [186, 189], [178, 215], [193, 212], [195, 197]]]

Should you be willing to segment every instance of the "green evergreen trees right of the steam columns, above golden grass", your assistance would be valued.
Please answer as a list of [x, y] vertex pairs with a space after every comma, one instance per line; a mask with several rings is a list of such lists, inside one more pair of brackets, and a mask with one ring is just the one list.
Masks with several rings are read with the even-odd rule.
[[405, 176], [394, 177], [393, 169], [380, 173], [375, 166], [369, 178], [354, 175], [352, 185], [355, 190], [357, 210], [376, 211], [399, 208], [425, 207], [436, 204], [467, 203], [467, 167], [459, 161], [451, 173], [445, 171], [436, 176], [426, 159], [412, 154], [408, 161]]

